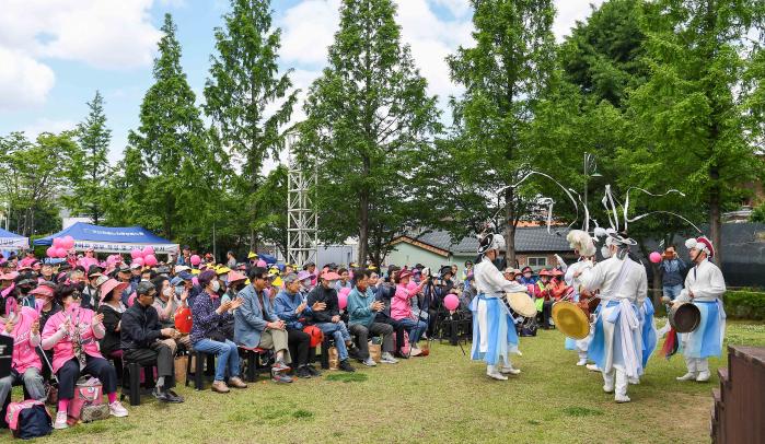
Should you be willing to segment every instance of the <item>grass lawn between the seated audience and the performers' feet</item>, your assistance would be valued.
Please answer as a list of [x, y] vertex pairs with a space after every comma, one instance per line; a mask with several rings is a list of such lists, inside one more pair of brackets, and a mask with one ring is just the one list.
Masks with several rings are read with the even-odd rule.
[[[663, 320], [659, 320], [662, 325]], [[765, 325], [729, 323], [729, 343], [765, 346]], [[661, 343], [661, 342], [660, 342]], [[276, 385], [265, 378], [245, 390], [220, 395], [178, 392], [184, 405], [143, 397], [126, 419], [55, 431], [40, 443], [309, 443], [309, 442], [708, 442], [707, 384], [679, 383], [680, 355], [654, 355], [633, 401], [617, 405], [602, 392], [600, 373], [575, 366], [556, 330], [522, 338], [523, 371], [507, 382], [488, 379], [485, 366], [459, 347], [432, 347], [428, 358], [347, 375]], [[465, 351], [470, 353], [467, 347]], [[726, 359], [711, 366], [726, 365]], [[360, 366], [360, 364], [359, 364]], [[18, 396], [16, 396], [18, 397]], [[10, 441], [8, 431], [0, 441]]]

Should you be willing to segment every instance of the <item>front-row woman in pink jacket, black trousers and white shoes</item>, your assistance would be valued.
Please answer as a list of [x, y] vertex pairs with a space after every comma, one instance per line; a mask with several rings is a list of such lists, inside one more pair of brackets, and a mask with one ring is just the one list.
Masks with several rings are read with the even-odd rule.
[[104, 315], [80, 307], [80, 293], [74, 285], [56, 287], [54, 296], [63, 309], [50, 316], [43, 330], [43, 348], [54, 350], [53, 370], [59, 384], [54, 428], [67, 428], [69, 402], [77, 379], [84, 373], [101, 381], [112, 416], [127, 417], [128, 411], [117, 400], [117, 373], [98, 351], [98, 340], [105, 334]]

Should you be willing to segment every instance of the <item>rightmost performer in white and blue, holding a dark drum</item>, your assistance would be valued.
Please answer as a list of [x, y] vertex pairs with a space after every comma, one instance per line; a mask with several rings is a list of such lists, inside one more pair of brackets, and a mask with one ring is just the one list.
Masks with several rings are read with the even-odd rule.
[[711, 242], [702, 236], [685, 242], [694, 268], [685, 278], [685, 289], [674, 303], [692, 302], [702, 313], [702, 320], [694, 331], [679, 334], [680, 350], [685, 358], [688, 372], [677, 381], [709, 381], [709, 357], [719, 357], [726, 334], [726, 312], [722, 294], [726, 281], [722, 271], [709, 258], [715, 256]]

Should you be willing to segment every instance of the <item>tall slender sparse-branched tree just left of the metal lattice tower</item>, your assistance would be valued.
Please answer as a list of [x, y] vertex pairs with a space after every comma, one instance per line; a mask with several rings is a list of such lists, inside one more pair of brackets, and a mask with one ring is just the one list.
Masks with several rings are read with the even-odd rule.
[[[257, 221], [268, 219], [262, 212], [270, 211], [255, 202], [264, 182], [263, 164], [278, 156], [283, 145], [280, 129], [290, 119], [298, 92], [289, 91], [291, 70], [279, 74], [281, 32], [271, 28], [270, 1], [231, 0], [231, 11], [223, 20], [225, 27], [215, 32], [218, 54], [211, 57], [204, 107], [219, 129], [221, 143], [243, 157], [233, 185], [240, 196], [234, 209], [244, 214], [232, 220], [248, 221], [250, 248], [254, 249]], [[242, 197], [247, 205], [242, 205]]]

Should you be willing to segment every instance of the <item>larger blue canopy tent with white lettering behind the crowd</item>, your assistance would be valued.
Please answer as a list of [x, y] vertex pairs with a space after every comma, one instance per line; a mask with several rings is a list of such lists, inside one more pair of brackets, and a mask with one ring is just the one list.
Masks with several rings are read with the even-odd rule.
[[134, 248], [143, 249], [151, 246], [159, 255], [178, 253], [178, 244], [173, 244], [142, 226], [98, 226], [83, 222], [77, 222], [56, 234], [38, 238], [34, 244], [50, 246], [54, 238], [63, 236], [72, 236], [74, 249], [80, 252], [93, 248], [97, 253], [129, 254]]

